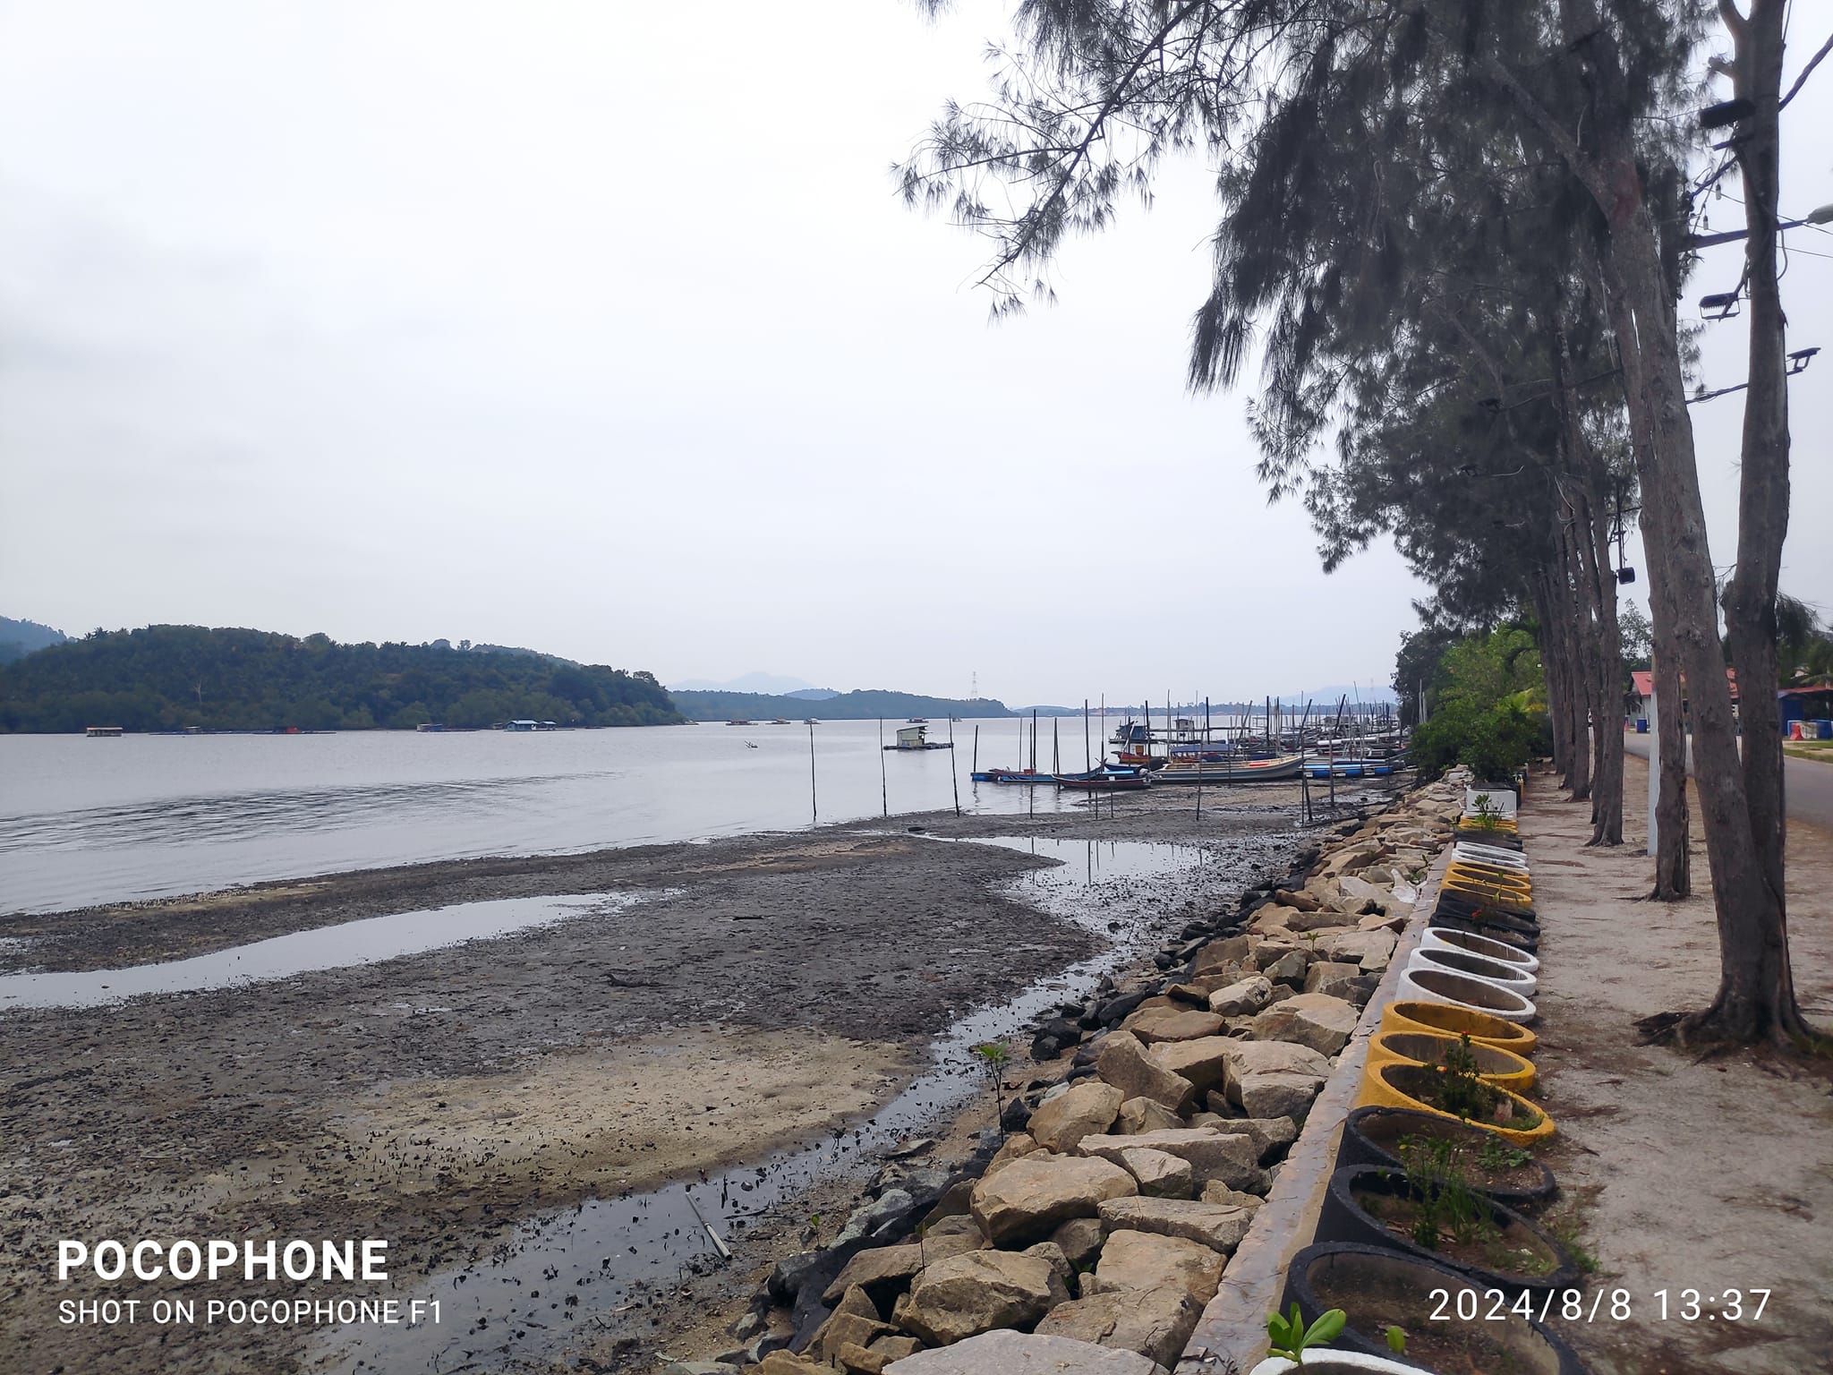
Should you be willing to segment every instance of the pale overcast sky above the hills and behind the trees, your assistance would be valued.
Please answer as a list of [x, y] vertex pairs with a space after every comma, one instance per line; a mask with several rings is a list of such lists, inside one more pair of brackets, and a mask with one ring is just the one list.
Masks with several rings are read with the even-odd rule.
[[[887, 167], [1004, 6], [686, 13], [0, 4], [0, 614], [1008, 702], [1388, 678], [1424, 588], [1320, 574], [1243, 396], [1184, 392], [1201, 165], [988, 324], [984, 244]], [[1785, 125], [1806, 214], [1833, 77]], [[1833, 345], [1833, 235], [1789, 242], [1791, 343]], [[1708, 328], [1708, 385], [1741, 348]], [[1833, 610], [1829, 392], [1833, 350], [1782, 578]], [[1696, 407], [1719, 565], [1740, 414]]]

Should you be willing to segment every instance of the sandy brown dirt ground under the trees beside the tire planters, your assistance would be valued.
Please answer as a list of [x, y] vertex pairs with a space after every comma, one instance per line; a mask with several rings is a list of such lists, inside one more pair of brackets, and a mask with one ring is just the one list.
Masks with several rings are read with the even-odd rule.
[[[1542, 918], [1540, 1067], [1549, 1157], [1597, 1260], [1589, 1322], [1554, 1324], [1593, 1375], [1833, 1370], [1833, 1096], [1828, 1065], [1641, 1045], [1635, 1021], [1718, 986], [1710, 893], [1646, 902], [1648, 766], [1628, 759], [1624, 847], [1584, 849], [1589, 803], [1536, 774], [1521, 832]], [[1694, 880], [1707, 860], [1694, 803]], [[1811, 1021], [1833, 1028], [1833, 834], [1789, 823], [1789, 937]], [[1626, 1291], [1611, 1320], [1609, 1291]], [[1699, 1291], [1697, 1316], [1686, 1320]], [[1771, 1291], [1760, 1320], [1758, 1294]], [[1666, 1291], [1666, 1316], [1659, 1292]], [[1727, 1291], [1743, 1291], [1734, 1320]]]

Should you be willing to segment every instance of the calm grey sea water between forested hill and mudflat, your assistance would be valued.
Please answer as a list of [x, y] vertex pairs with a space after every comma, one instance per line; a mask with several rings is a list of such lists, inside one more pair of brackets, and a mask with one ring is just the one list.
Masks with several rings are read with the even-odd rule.
[[[885, 722], [885, 739], [895, 724]], [[477, 854], [709, 840], [953, 805], [1074, 808], [973, 785], [1015, 766], [1017, 720], [955, 722], [955, 750], [884, 754], [873, 720], [590, 732], [0, 737], [0, 911], [196, 893]], [[1100, 720], [1091, 726], [1100, 752]], [[929, 739], [948, 739], [933, 722]], [[1111, 733], [1113, 726], [1109, 726]], [[1039, 724], [1050, 766], [1050, 722]], [[755, 746], [755, 748], [753, 748]], [[1081, 768], [1081, 720], [1061, 720]], [[880, 774], [884, 768], [884, 774]], [[1032, 798], [1036, 792], [1036, 798]]]

